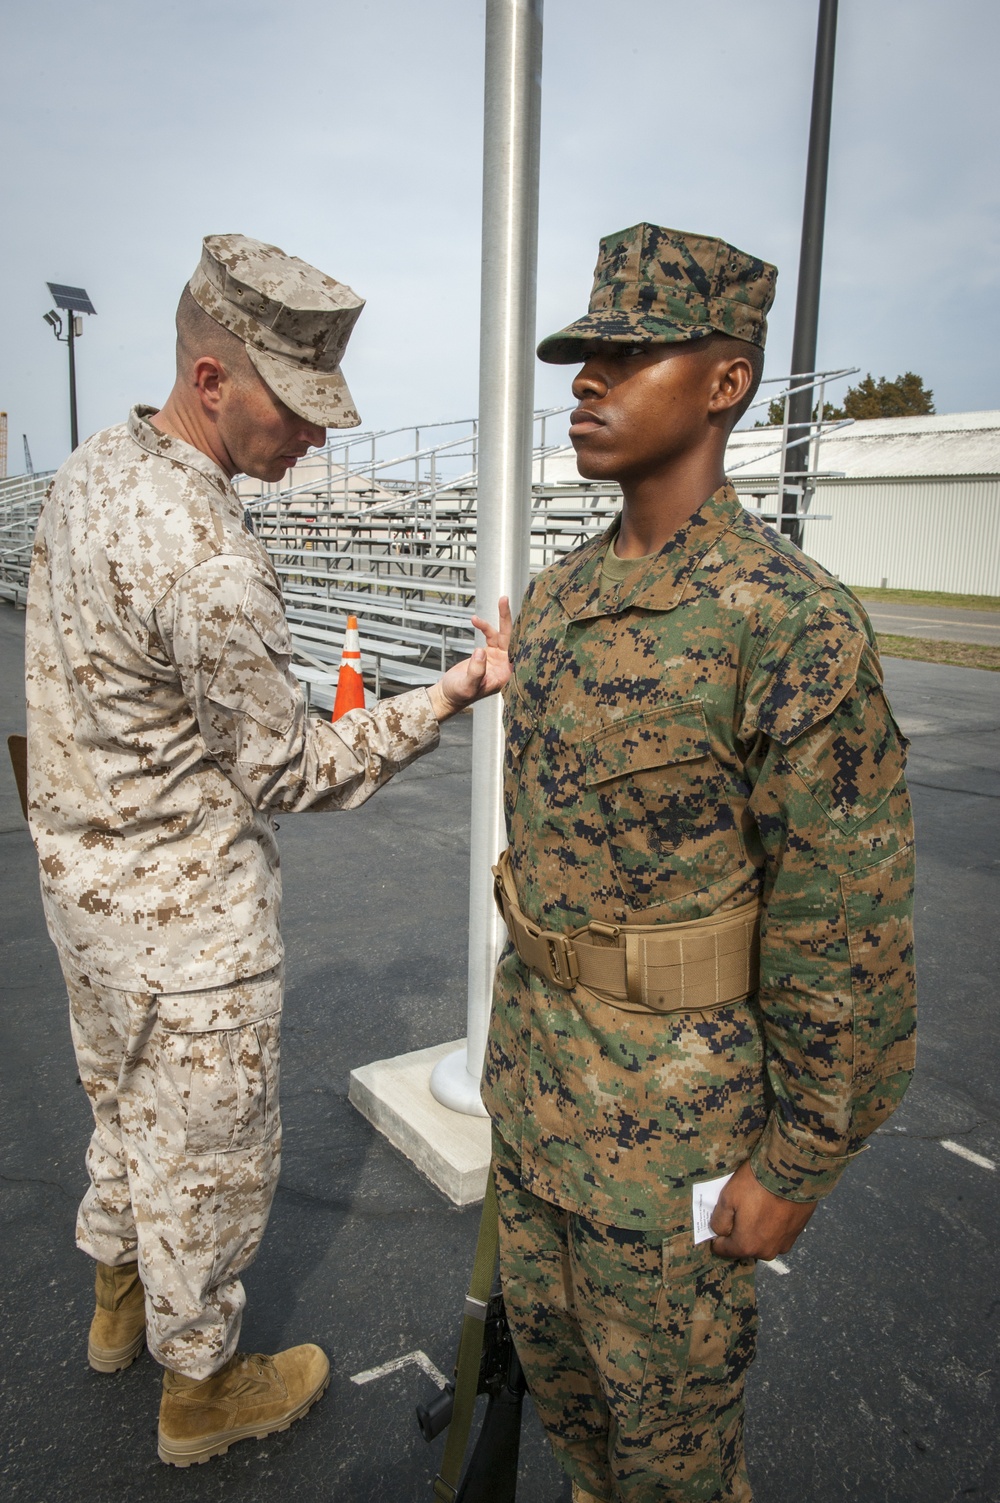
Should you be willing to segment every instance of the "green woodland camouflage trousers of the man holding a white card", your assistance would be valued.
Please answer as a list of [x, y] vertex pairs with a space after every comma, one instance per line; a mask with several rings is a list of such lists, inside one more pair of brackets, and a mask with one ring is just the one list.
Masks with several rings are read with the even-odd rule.
[[690, 1223], [605, 1226], [520, 1186], [495, 1132], [501, 1279], [528, 1387], [577, 1494], [615, 1503], [752, 1503], [743, 1380], [755, 1264]]

